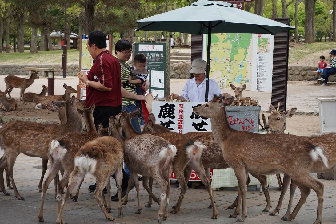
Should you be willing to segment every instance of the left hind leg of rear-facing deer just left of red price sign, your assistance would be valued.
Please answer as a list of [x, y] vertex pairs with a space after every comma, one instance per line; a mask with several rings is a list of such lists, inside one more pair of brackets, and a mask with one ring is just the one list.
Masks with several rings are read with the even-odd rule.
[[170, 213], [177, 213], [178, 211], [180, 211], [180, 207], [182, 204], [182, 201], [185, 197], [185, 192], [188, 189], [187, 183], [190, 179], [190, 175], [193, 171], [193, 168], [191, 166], [186, 166], [183, 170], [179, 170], [179, 169], [175, 169], [174, 171], [174, 175], [178, 181], [178, 183], [181, 186], [181, 192], [180, 192], [180, 196], [178, 197], [178, 200], [175, 204], [175, 206], [173, 206], [173, 210]]

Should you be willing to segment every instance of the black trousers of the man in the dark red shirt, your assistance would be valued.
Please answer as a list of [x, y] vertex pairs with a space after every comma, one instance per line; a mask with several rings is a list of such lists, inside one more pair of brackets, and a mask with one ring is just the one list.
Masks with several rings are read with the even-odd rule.
[[[93, 111], [94, 126], [97, 129], [98, 124], [102, 123], [103, 127], [108, 127], [110, 117], [111, 116], [116, 117], [120, 113], [121, 113], [121, 105], [119, 105], [118, 107], [95, 107]], [[115, 175], [112, 175], [111, 177], [116, 179]], [[124, 191], [127, 189], [128, 179], [129, 179], [129, 176], [126, 174], [126, 172], [123, 169], [123, 181], [121, 184], [121, 191]], [[116, 181], [116, 186], [117, 186], [117, 181]]]

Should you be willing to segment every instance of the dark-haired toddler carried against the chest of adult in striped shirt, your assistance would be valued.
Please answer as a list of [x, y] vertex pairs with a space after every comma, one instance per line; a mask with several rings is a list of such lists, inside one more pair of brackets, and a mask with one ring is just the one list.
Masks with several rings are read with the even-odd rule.
[[[142, 83], [146, 81], [148, 76], [148, 69], [146, 68], [146, 57], [144, 54], [137, 54], [134, 57], [133, 67], [132, 67], [132, 76], [128, 77], [130, 83], [136, 84], [136, 93], [138, 95], [143, 95]], [[145, 121], [143, 118], [141, 101], [136, 101], [137, 108], [140, 108], [141, 122], [140, 128], [143, 128]]]

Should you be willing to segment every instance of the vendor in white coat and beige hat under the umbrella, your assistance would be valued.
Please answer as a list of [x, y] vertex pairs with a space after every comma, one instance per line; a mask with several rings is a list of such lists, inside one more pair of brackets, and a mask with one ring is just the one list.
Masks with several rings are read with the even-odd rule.
[[[207, 68], [207, 62], [202, 59], [195, 59], [191, 64], [190, 73], [194, 74], [195, 78], [189, 79], [183, 89], [181, 96], [177, 94], [169, 95], [176, 96], [178, 100], [190, 100], [191, 102], [204, 102], [205, 100], [205, 73]], [[218, 83], [209, 79], [209, 100], [212, 100], [213, 96], [221, 93]]]

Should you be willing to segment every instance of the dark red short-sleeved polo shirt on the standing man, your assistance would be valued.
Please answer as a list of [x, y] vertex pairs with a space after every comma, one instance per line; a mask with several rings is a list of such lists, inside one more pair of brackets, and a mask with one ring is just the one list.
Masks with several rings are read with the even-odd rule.
[[[110, 51], [102, 51], [95, 60], [87, 77], [90, 81], [96, 82], [97, 76], [100, 84], [111, 88], [110, 91], [100, 91], [93, 87], [86, 87], [85, 107], [90, 107], [92, 103], [95, 106], [117, 107], [122, 103], [121, 96], [121, 69], [120, 63]], [[90, 85], [90, 83], [89, 83]]]

